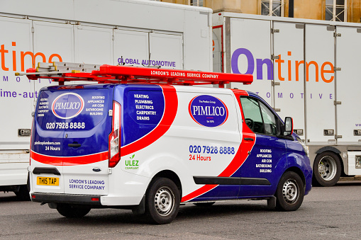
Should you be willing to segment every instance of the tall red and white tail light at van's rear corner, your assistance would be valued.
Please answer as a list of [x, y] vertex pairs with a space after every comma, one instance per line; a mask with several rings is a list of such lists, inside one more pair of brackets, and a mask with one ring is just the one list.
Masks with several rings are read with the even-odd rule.
[[113, 125], [109, 135], [109, 168], [121, 160], [121, 105], [113, 101]]

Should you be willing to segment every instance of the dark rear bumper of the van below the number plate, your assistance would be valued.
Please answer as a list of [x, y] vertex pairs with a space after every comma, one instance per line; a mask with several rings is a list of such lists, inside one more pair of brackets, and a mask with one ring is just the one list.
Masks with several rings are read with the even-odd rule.
[[79, 205], [101, 206], [100, 195], [74, 195], [74, 194], [59, 194], [59, 193], [31, 193], [31, 200], [33, 202], [56, 202], [69, 203]]

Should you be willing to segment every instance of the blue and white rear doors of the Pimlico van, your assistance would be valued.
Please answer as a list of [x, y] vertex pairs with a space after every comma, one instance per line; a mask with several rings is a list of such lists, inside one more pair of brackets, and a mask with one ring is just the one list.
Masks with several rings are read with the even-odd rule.
[[40, 92], [33, 123], [33, 191], [108, 193], [113, 87], [56, 86]]

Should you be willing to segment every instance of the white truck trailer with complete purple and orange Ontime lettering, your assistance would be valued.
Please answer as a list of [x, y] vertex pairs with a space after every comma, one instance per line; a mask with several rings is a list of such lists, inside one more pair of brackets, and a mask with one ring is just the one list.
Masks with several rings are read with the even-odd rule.
[[361, 175], [360, 42], [357, 23], [213, 14], [213, 71], [254, 74], [241, 87], [294, 118], [314, 185]]

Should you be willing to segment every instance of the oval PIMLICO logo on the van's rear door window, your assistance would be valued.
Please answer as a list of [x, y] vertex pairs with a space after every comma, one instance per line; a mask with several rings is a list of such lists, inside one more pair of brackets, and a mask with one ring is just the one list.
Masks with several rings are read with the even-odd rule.
[[70, 119], [82, 112], [84, 99], [77, 93], [63, 93], [52, 102], [51, 110], [57, 118]]

